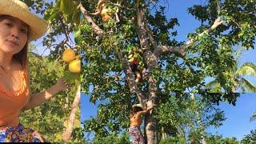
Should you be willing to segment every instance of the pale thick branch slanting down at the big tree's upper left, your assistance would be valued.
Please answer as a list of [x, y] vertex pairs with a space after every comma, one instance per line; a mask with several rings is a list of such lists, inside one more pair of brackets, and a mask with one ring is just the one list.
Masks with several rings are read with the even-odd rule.
[[92, 18], [90, 18], [88, 11], [85, 9], [85, 7], [82, 6], [82, 4], [80, 3], [78, 6], [78, 9], [81, 10], [83, 17], [86, 18], [86, 21], [89, 22], [91, 24], [90, 26], [90, 30], [93, 30], [95, 34], [98, 34], [100, 36], [105, 34], [105, 31], [102, 30], [95, 22]]

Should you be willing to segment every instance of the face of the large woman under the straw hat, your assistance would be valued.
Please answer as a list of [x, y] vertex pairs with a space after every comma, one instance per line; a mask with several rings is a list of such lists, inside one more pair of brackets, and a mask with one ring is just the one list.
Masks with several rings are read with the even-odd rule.
[[26, 45], [28, 32], [29, 26], [25, 22], [11, 16], [2, 16], [0, 19], [0, 50], [6, 54], [17, 54]]

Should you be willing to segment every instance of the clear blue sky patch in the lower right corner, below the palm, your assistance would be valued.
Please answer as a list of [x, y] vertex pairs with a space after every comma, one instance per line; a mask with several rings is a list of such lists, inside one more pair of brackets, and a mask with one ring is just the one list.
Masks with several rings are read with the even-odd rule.
[[236, 106], [222, 102], [218, 108], [224, 110], [226, 121], [218, 129], [210, 127], [212, 134], [222, 134], [224, 137], [235, 137], [241, 140], [250, 130], [256, 129], [256, 121], [250, 122], [250, 117], [256, 111], [256, 94], [241, 94]]

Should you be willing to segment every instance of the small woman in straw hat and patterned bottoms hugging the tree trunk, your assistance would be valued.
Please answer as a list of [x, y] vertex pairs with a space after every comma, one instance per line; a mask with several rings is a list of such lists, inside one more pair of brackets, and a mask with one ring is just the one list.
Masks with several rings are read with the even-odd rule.
[[130, 128], [128, 133], [133, 137], [134, 144], [144, 144], [144, 138], [140, 126], [142, 124], [143, 115], [150, 112], [153, 106], [150, 106], [146, 110], [143, 109], [141, 104], [133, 105], [133, 112], [130, 114]]

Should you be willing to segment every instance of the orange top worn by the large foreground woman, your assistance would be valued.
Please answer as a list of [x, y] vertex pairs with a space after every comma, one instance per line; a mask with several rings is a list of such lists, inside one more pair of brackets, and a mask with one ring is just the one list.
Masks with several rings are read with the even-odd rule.
[[26, 71], [20, 70], [19, 74], [22, 78], [22, 86], [19, 90], [6, 90], [0, 84], [0, 127], [18, 126], [19, 113], [29, 100]]

